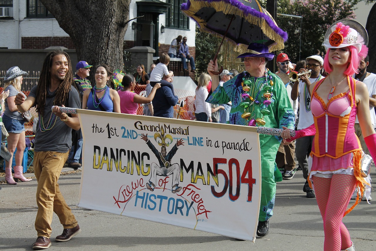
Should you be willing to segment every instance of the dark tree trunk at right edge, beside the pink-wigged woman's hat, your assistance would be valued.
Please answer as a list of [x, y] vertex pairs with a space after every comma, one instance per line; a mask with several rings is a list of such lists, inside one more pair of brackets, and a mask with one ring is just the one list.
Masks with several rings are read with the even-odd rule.
[[374, 17], [376, 15], [376, 4], [371, 8], [368, 14], [367, 25], [365, 29], [368, 32], [368, 55], [370, 56], [370, 64], [367, 66], [367, 72], [376, 73], [376, 22]]

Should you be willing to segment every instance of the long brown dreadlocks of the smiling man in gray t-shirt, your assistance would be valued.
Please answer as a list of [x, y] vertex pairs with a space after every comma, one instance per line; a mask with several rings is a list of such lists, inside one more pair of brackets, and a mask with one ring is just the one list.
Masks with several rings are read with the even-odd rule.
[[[43, 67], [41, 75], [39, 77], [39, 82], [36, 88], [36, 112], [40, 115], [44, 113], [45, 100], [47, 97], [47, 88], [50, 86], [50, 68], [52, 67], [52, 59], [57, 55], [64, 55], [68, 60], [68, 71], [65, 75], [64, 80], [59, 84], [58, 89], [56, 90], [56, 96], [54, 104], [55, 106], [62, 106], [65, 104], [66, 99], [69, 97], [69, 92], [73, 84], [73, 73], [71, 69], [70, 57], [66, 52], [55, 50], [47, 54], [43, 62]], [[73, 85], [75, 87], [75, 85]]]

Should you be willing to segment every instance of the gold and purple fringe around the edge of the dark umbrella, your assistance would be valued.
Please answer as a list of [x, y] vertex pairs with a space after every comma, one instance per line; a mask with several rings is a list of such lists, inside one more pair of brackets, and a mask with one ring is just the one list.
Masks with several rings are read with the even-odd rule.
[[[284, 39], [279, 34], [277, 34], [277, 32], [273, 30], [273, 28], [271, 28], [269, 26], [269, 24], [267, 23], [265, 18], [262, 17], [262, 15], [265, 15], [265, 14], [268, 15], [270, 17], [270, 19], [274, 22], [274, 24], [277, 26], [276, 22], [273, 20], [273, 18], [271, 18], [270, 14], [267, 11], [265, 11], [265, 9], [262, 8], [261, 6], [259, 6], [259, 8], [260, 8], [259, 9], [260, 12], [258, 12], [259, 14], [255, 13], [255, 15], [256, 15], [255, 16], [255, 15], [252, 15], [252, 14], [244, 15], [244, 12], [240, 8], [238, 8], [237, 6], [233, 6], [230, 3], [225, 3], [225, 2], [210, 2], [209, 3], [209, 2], [203, 2], [203, 1], [191, 0], [190, 1], [190, 8], [188, 10], [182, 10], [182, 11], [186, 15], [188, 15], [189, 17], [193, 18], [193, 20], [195, 20], [197, 22], [197, 24], [200, 26], [201, 31], [206, 31], [206, 32], [209, 32], [211, 34], [216, 34], [215, 32], [212, 32], [209, 29], [206, 29], [205, 20], [203, 20], [202, 18], [194, 15], [200, 9], [202, 9], [204, 7], [212, 7], [216, 11], [218, 11], [218, 12], [221, 11], [224, 14], [238, 15], [238, 16], [246, 19], [249, 23], [252, 23], [254, 25], [259, 26], [261, 28], [262, 32], [264, 32], [264, 34], [268, 38], [270, 38], [271, 40], [274, 40], [274, 42], [275, 42], [275, 43], [268, 46], [269, 52], [281, 50], [285, 47]], [[264, 11], [265, 14], [262, 13], [261, 11]], [[257, 16], [257, 15], [259, 15], [259, 16]], [[223, 35], [217, 35], [217, 37], [223, 37]], [[230, 39], [228, 39], [227, 41], [233, 42]], [[251, 41], [251, 43], [252, 43], [252, 41]], [[237, 44], [235, 42], [233, 42], [233, 44], [236, 45], [235, 48], [234, 48], [234, 51], [237, 51], [237, 52], [240, 52], [240, 53], [246, 52], [247, 47], [248, 47], [248, 45]]]

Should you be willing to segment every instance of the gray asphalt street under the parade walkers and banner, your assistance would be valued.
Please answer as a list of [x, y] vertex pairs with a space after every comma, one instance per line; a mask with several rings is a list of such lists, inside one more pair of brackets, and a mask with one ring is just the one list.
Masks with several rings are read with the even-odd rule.
[[[372, 168], [374, 171], [374, 167]], [[63, 168], [60, 189], [72, 208], [82, 232], [68, 242], [55, 242], [62, 233], [62, 225], [54, 214], [52, 221], [51, 251], [58, 250], [271, 250], [271, 251], [320, 251], [323, 250], [324, 231], [316, 199], [308, 199], [302, 188], [302, 171], [294, 178], [277, 184], [274, 216], [270, 219], [270, 231], [255, 243], [238, 241], [186, 228], [174, 227], [146, 220], [132, 219], [76, 207], [79, 197], [81, 171], [71, 172]], [[28, 174], [25, 176], [32, 176]], [[376, 181], [376, 175], [371, 177]], [[4, 181], [4, 177], [0, 178]], [[373, 183], [373, 185], [375, 185]], [[0, 190], [0, 250], [32, 250], [36, 240], [34, 220], [37, 206], [35, 191], [37, 182], [19, 182], [17, 185], [2, 184]], [[376, 196], [372, 191], [371, 196]], [[371, 205], [362, 201], [348, 214], [343, 222], [350, 231], [356, 251], [376, 250], [376, 197]], [[350, 200], [353, 203], [354, 200]], [[220, 205], [218, 205], [220, 207]], [[229, 217], [237, 217], [230, 216]]]

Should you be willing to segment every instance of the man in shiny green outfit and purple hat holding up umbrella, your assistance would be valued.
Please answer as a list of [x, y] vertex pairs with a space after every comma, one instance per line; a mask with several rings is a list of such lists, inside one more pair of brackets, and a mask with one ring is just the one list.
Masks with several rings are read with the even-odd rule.
[[[206, 102], [226, 104], [232, 102], [229, 123], [242, 126], [266, 126], [294, 129], [294, 111], [288, 99], [285, 84], [265, 65], [274, 54], [268, 47], [251, 43], [244, 58], [245, 71], [219, 86], [217, 62], [208, 64], [208, 73], [212, 77], [211, 92]], [[269, 218], [273, 215], [276, 181], [282, 181], [275, 159], [280, 137], [259, 135], [261, 149], [261, 206], [257, 235], [263, 237], [269, 232]]]

